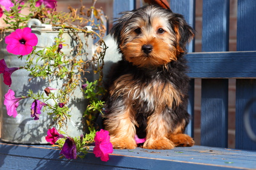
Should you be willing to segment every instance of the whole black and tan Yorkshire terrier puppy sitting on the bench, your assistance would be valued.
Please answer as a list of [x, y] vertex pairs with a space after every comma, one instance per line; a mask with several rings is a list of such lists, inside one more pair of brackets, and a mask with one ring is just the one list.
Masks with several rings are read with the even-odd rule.
[[110, 142], [133, 149], [137, 135], [147, 149], [193, 146], [184, 134], [190, 120], [184, 55], [194, 30], [181, 14], [155, 5], [121, 14], [110, 31], [122, 54], [106, 86]]

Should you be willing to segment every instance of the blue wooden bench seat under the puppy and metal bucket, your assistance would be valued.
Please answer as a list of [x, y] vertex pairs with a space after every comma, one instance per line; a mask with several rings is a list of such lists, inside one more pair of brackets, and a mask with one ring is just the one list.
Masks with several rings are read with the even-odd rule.
[[114, 150], [108, 162], [92, 153], [84, 159], [59, 159], [50, 145], [0, 143], [0, 169], [255, 169], [256, 152], [214, 147], [179, 147], [173, 150]]

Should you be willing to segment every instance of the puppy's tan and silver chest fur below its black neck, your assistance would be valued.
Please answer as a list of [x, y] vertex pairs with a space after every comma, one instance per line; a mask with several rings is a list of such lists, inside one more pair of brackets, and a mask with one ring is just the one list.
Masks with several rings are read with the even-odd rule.
[[133, 79], [131, 74], [124, 74], [115, 80], [110, 94], [122, 97], [127, 105], [134, 105], [136, 108], [142, 107], [141, 105], [148, 105], [146, 108], [172, 108], [181, 102], [181, 94], [171, 82], [159, 79], [141, 82]]

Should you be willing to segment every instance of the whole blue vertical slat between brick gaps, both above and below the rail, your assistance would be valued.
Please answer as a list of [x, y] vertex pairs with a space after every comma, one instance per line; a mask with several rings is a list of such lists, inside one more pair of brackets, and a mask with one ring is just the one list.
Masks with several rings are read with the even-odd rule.
[[[202, 51], [228, 50], [229, 0], [203, 1], [202, 22]], [[227, 79], [202, 79], [201, 145], [227, 147], [227, 96]]]

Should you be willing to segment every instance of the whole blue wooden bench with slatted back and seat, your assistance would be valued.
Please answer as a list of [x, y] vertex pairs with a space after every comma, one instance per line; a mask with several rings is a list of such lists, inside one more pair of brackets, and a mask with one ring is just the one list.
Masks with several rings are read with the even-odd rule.
[[[171, 9], [194, 27], [195, 0], [171, 0]], [[114, 16], [135, 8], [134, 0], [114, 1]], [[202, 51], [188, 47], [191, 91], [188, 111], [194, 115], [194, 79], [202, 79], [200, 146], [173, 150], [114, 150], [109, 162], [92, 153], [85, 159], [59, 159], [48, 145], [0, 143], [0, 169], [256, 169], [256, 142], [245, 130], [246, 103], [256, 97], [256, 3], [237, 4], [237, 52], [228, 52], [229, 1], [203, 1]], [[228, 149], [228, 79], [236, 79], [235, 149]], [[256, 103], [256, 102], [255, 102]], [[256, 105], [251, 112], [256, 111]], [[256, 132], [256, 118], [250, 119]], [[187, 128], [193, 136], [193, 120]]]

